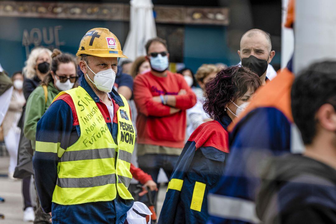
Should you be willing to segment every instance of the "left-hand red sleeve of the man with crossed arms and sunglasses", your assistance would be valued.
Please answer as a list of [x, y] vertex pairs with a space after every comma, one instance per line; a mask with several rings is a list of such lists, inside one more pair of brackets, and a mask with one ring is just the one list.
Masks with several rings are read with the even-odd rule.
[[170, 115], [169, 106], [153, 101], [153, 95], [141, 76], [134, 79], [134, 102], [138, 113], [146, 116], [164, 117]]

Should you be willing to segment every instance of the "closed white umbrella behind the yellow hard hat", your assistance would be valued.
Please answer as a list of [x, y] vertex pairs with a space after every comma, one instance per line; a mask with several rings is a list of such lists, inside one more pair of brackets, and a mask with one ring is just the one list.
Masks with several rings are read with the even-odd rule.
[[[153, 15], [153, 3], [151, 0], [131, 0], [130, 29], [123, 53], [130, 60], [145, 55], [146, 42], [156, 37], [156, 26]], [[124, 59], [121, 59], [122, 61]]]

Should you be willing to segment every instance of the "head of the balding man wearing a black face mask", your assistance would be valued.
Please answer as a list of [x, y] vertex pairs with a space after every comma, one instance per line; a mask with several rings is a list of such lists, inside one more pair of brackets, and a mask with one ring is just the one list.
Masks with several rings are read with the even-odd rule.
[[256, 72], [262, 85], [265, 85], [267, 66], [275, 55], [269, 35], [259, 29], [247, 31], [240, 40], [238, 54], [242, 60], [242, 66]]

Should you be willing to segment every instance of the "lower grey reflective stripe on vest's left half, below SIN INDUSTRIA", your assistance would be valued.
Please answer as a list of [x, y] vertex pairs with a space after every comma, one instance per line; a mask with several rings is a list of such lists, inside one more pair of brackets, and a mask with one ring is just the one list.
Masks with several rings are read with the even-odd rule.
[[97, 187], [111, 183], [116, 183], [116, 174], [83, 178], [57, 178], [56, 181], [56, 184], [63, 188]]

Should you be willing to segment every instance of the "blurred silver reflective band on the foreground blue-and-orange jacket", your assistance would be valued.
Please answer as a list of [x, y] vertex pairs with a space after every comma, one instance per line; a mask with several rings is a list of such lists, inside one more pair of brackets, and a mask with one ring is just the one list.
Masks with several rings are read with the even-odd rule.
[[220, 218], [260, 223], [255, 204], [249, 200], [210, 193], [208, 194], [208, 212]]

